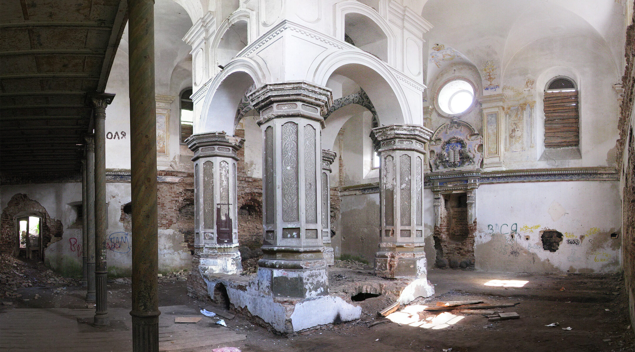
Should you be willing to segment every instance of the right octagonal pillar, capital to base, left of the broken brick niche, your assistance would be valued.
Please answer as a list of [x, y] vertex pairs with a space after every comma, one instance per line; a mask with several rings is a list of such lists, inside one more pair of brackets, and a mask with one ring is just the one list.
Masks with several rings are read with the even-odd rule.
[[378, 276], [426, 277], [424, 145], [431, 135], [431, 130], [420, 125], [382, 126], [371, 134], [381, 158], [380, 243], [375, 256]]

